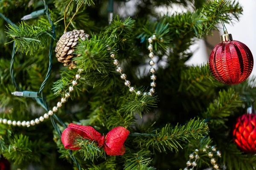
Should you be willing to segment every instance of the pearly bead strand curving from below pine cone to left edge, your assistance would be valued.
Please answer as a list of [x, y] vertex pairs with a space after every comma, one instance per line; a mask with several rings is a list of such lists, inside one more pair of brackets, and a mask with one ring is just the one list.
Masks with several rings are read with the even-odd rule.
[[58, 108], [62, 106], [63, 103], [67, 102], [67, 99], [70, 97], [70, 92], [74, 90], [74, 86], [77, 85], [77, 80], [81, 78], [81, 72], [83, 71], [82, 68], [78, 69], [78, 73], [76, 74], [76, 79], [73, 80], [72, 86], [68, 88], [69, 92], [65, 93], [65, 97], [61, 98], [61, 101], [57, 103], [57, 106], [54, 106], [52, 110], [48, 111], [48, 113], [44, 113], [44, 116], [40, 116], [39, 118], [36, 118], [35, 120], [30, 121], [15, 121], [15, 120], [7, 120], [0, 118], [0, 123], [13, 125], [13, 126], [23, 126], [23, 127], [30, 127], [39, 124], [40, 122], [43, 122], [45, 119], [48, 119], [49, 116], [52, 116], [54, 112], [58, 111]]

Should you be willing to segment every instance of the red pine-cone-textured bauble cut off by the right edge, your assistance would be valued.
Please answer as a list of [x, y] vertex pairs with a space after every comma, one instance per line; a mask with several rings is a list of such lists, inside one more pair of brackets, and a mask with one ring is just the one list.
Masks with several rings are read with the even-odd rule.
[[239, 116], [233, 130], [234, 142], [246, 153], [256, 153], [256, 114], [250, 108]]

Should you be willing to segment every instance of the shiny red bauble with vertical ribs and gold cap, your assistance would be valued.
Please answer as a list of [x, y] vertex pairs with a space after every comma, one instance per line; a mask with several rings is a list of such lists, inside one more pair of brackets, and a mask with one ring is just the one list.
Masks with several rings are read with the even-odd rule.
[[235, 85], [246, 80], [253, 70], [253, 54], [242, 42], [232, 39], [232, 35], [224, 31], [209, 58], [209, 66], [213, 76], [219, 82]]

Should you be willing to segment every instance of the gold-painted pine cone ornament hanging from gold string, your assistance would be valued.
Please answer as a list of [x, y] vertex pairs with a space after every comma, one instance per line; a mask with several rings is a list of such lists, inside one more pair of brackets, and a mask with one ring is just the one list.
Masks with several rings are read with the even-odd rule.
[[84, 33], [84, 30], [69, 31], [64, 33], [60, 40], [58, 40], [55, 52], [59, 62], [64, 63], [64, 66], [69, 65], [69, 69], [76, 68], [76, 63], [72, 61], [73, 57], [77, 55], [72, 54], [75, 51], [75, 46], [78, 40], [84, 41], [89, 37]]

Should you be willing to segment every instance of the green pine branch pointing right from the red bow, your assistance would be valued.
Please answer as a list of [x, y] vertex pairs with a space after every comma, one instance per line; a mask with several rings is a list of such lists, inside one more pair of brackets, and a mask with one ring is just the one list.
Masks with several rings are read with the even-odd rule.
[[145, 146], [147, 148], [153, 147], [159, 152], [166, 152], [167, 150], [176, 150], [183, 148], [180, 142], [189, 141], [190, 138], [198, 139], [208, 133], [209, 129], [207, 123], [204, 123], [200, 119], [191, 119], [186, 125], [166, 125], [160, 132], [157, 130], [155, 134], [152, 133], [132, 133], [132, 136], [136, 136], [135, 143], [139, 146]]

